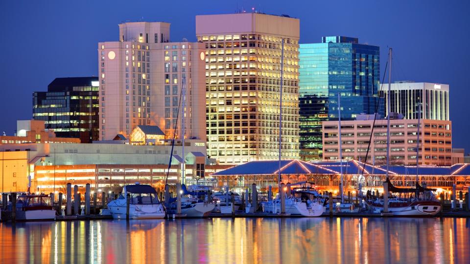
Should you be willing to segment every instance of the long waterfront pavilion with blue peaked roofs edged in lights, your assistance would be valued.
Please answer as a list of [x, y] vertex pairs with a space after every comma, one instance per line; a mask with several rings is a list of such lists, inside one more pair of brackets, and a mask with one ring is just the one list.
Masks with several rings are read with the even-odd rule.
[[[414, 186], [416, 173], [421, 183], [431, 188], [450, 190], [456, 184], [457, 190], [467, 190], [470, 186], [470, 164], [452, 166], [389, 166], [389, 178], [396, 186]], [[218, 185], [230, 188], [246, 188], [252, 183], [264, 190], [269, 185], [278, 186], [279, 161], [250, 161], [211, 174]], [[345, 190], [355, 190], [359, 182], [362, 186], [381, 187], [386, 177], [386, 166], [374, 166], [357, 160], [319, 160], [305, 162], [291, 159], [281, 161], [283, 183], [312, 182], [319, 190], [337, 190], [344, 176]]]

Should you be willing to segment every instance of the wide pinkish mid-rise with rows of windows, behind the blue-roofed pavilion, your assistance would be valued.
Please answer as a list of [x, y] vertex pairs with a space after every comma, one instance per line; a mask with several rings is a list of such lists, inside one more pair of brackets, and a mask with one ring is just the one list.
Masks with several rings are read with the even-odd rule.
[[[387, 157], [387, 120], [341, 121], [343, 159], [385, 164]], [[338, 122], [325, 121], [322, 125], [324, 159], [339, 158]], [[371, 142], [369, 147], [369, 142]], [[416, 148], [420, 149], [421, 165], [452, 165], [452, 127], [450, 121], [420, 120], [418, 143], [417, 119], [390, 120], [390, 164], [416, 164]]]

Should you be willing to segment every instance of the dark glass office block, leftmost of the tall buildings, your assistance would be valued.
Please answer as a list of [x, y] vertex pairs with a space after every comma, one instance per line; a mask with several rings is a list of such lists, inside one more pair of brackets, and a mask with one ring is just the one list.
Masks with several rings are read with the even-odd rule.
[[56, 78], [46, 92], [33, 92], [33, 119], [59, 137], [98, 140], [98, 77]]

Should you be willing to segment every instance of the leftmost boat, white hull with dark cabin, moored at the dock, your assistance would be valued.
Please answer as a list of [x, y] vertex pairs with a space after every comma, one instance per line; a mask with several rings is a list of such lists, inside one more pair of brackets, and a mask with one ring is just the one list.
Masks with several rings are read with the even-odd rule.
[[[11, 204], [9, 205], [11, 212]], [[55, 220], [56, 211], [47, 195], [21, 195], [16, 201], [16, 220]]]

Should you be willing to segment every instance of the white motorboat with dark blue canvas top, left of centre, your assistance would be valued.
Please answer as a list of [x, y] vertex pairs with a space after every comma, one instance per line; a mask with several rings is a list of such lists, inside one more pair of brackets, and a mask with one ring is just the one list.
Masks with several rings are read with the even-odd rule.
[[126, 219], [127, 194], [130, 195], [129, 219], [162, 219], [165, 217], [163, 204], [158, 200], [155, 189], [146, 184], [124, 186], [118, 199], [108, 203], [114, 219]]

